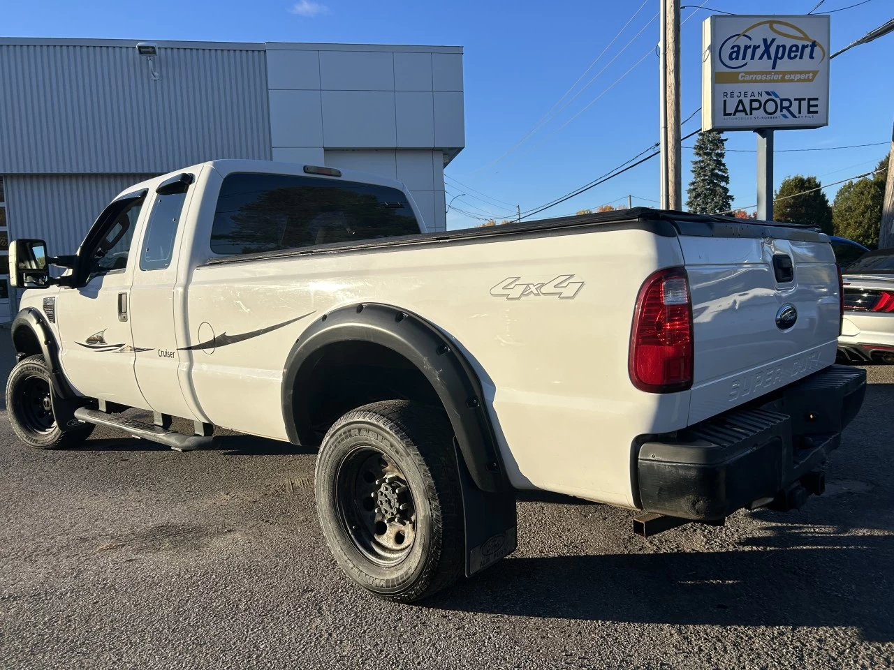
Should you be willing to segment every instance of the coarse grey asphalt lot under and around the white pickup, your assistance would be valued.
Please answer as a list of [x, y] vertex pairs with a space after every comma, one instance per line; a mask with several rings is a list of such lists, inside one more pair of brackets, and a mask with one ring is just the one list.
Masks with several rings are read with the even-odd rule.
[[869, 379], [804, 509], [645, 541], [627, 511], [529, 497], [518, 552], [422, 606], [347, 582], [308, 451], [40, 452], [2, 412], [0, 667], [891, 667], [894, 366]]

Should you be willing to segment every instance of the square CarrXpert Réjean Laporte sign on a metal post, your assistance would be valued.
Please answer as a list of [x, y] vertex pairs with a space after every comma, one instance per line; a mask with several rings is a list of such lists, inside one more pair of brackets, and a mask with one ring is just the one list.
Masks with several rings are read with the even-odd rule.
[[828, 16], [712, 16], [702, 46], [703, 130], [829, 124]]

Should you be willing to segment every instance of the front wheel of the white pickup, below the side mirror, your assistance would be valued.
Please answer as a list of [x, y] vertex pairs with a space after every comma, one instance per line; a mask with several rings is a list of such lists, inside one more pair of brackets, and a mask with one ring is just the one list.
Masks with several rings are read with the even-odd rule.
[[55, 422], [49, 394], [50, 372], [44, 357], [22, 358], [6, 381], [6, 411], [13, 431], [22, 442], [36, 449], [80, 445], [93, 432], [93, 424], [63, 431]]

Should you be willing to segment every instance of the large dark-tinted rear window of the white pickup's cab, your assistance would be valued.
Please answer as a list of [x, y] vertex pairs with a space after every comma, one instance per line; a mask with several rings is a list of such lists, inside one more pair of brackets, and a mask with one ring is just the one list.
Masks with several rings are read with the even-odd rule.
[[223, 180], [211, 249], [253, 254], [417, 232], [407, 197], [396, 188], [242, 172]]

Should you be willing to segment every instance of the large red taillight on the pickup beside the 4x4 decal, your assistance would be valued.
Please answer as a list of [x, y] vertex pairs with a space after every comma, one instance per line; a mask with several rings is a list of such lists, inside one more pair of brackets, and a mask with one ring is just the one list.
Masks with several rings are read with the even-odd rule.
[[637, 296], [628, 368], [637, 389], [669, 393], [692, 386], [692, 298], [686, 270], [654, 272]]

